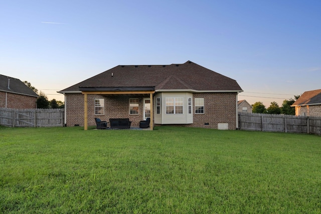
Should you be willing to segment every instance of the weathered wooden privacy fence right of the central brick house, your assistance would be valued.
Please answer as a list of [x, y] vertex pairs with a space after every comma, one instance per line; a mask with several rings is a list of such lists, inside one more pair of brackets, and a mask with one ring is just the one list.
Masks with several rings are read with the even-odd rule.
[[238, 127], [241, 130], [321, 135], [321, 117], [238, 112]]

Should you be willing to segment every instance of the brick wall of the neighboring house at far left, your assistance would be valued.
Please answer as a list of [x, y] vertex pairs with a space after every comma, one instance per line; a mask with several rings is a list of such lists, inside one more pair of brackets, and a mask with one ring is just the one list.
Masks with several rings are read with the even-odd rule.
[[[6, 92], [0, 92], [0, 107], [6, 107]], [[7, 93], [7, 108], [29, 109], [37, 107], [37, 97]]]

